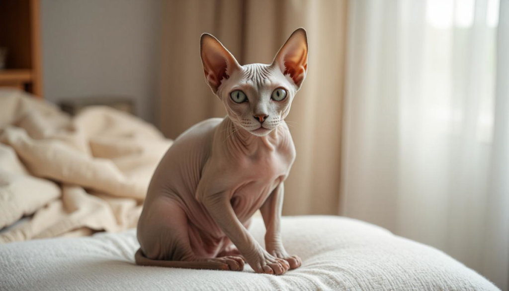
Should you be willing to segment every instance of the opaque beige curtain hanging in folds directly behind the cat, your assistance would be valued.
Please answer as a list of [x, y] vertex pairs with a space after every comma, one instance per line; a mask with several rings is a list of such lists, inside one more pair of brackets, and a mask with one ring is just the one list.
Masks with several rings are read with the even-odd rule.
[[297, 159], [285, 183], [285, 215], [338, 214], [346, 1], [169, 1], [162, 37], [159, 127], [176, 138], [224, 117], [205, 84], [200, 35], [216, 36], [240, 64], [271, 63], [297, 28], [308, 33], [307, 79], [288, 117]]

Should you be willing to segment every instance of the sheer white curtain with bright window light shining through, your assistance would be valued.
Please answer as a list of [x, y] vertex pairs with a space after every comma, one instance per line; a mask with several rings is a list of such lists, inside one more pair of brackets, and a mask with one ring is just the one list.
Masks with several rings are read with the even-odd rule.
[[350, 1], [345, 216], [509, 288], [509, 3]]

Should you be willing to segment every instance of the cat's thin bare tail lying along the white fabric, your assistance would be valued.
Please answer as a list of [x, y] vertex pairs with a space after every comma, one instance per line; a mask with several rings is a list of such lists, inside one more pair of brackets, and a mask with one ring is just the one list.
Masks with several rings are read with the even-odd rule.
[[134, 260], [139, 266], [155, 266], [182, 269], [230, 270], [228, 264], [219, 261], [166, 261], [147, 258], [142, 249], [134, 254]]

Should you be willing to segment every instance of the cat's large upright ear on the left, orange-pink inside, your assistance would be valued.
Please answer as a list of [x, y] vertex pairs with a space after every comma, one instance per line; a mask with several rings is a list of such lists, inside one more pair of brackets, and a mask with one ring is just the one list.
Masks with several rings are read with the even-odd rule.
[[205, 80], [215, 94], [223, 78], [228, 79], [234, 70], [240, 68], [240, 65], [228, 49], [207, 33], [202, 34], [200, 53]]

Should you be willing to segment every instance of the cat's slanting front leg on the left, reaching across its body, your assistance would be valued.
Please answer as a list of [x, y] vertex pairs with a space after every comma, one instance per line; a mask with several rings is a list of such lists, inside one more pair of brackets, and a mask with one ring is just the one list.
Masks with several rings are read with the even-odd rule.
[[255, 272], [282, 275], [288, 271], [289, 263], [265, 251], [242, 225], [235, 215], [228, 193], [204, 195], [201, 201]]

